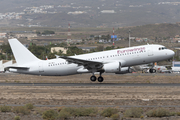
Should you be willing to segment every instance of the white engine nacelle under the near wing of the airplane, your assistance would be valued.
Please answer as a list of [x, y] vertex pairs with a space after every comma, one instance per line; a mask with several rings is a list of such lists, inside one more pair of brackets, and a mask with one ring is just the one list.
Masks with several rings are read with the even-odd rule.
[[106, 73], [116, 73], [121, 71], [121, 63], [120, 62], [112, 62], [108, 64], [104, 64], [103, 67]]

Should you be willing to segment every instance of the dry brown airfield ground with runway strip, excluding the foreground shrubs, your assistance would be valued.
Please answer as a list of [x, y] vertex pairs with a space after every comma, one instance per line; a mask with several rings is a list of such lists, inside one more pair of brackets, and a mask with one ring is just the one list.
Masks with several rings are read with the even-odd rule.
[[[32, 103], [37, 107], [46, 109], [62, 106], [115, 107], [122, 112], [132, 107], [140, 107], [144, 111], [164, 107], [180, 112], [179, 74], [103, 74], [105, 79], [103, 83], [92, 83], [89, 80], [90, 76], [91, 74], [34, 76], [1, 73], [0, 84], [14, 83], [14, 86], [7, 84], [0, 87], [0, 104], [16, 106]], [[19, 83], [26, 83], [27, 85], [17, 86], [16, 84]], [[63, 84], [60, 86], [36, 86], [37, 83], [63, 83], [65, 86]], [[141, 85], [141, 83], [144, 84]], [[7, 115], [0, 114], [3, 119]], [[33, 114], [32, 116], [29, 115], [27, 120], [33, 119], [32, 117], [42, 119]], [[165, 119], [163, 118], [163, 120]], [[177, 120], [179, 117], [167, 119]]]

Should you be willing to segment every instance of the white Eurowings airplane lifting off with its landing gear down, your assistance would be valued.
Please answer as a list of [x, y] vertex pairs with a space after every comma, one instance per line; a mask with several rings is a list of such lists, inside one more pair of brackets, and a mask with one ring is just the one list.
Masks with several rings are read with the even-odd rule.
[[[40, 60], [24, 47], [17, 39], [9, 39], [17, 66], [9, 66], [10, 72], [62, 76], [80, 73], [92, 73], [91, 81], [96, 81], [95, 72], [99, 72], [98, 81], [104, 79], [102, 73], [120, 73], [130, 66], [170, 59], [172, 50], [162, 45], [142, 45], [123, 49], [94, 52], [75, 56], [61, 56], [56, 59]], [[153, 70], [152, 70], [153, 72]]]

